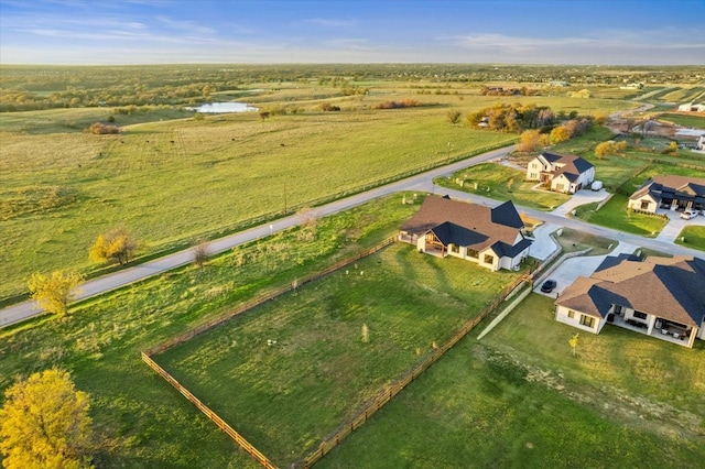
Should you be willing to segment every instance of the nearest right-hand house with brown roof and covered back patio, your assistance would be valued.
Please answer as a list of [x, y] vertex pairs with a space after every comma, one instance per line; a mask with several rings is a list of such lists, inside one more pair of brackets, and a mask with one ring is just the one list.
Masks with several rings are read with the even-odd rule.
[[705, 261], [608, 257], [563, 291], [555, 319], [593, 334], [610, 323], [692, 348], [705, 340]]

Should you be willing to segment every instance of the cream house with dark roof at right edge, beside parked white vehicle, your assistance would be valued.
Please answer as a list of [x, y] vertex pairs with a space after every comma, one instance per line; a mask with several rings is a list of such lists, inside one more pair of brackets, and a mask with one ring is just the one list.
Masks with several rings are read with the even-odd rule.
[[655, 214], [671, 210], [705, 209], [705, 179], [690, 176], [654, 176], [629, 197], [628, 208]]

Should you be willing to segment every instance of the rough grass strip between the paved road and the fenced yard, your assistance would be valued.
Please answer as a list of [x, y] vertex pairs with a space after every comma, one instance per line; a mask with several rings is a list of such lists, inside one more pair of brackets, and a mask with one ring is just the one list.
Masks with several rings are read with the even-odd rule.
[[[378, 244], [419, 207], [400, 201], [393, 196], [327, 217], [308, 241], [292, 230], [229, 251], [204, 269], [188, 266], [133, 284], [73, 306], [65, 320], [41, 317], [3, 329], [0, 390], [46, 368], [70, 371], [77, 388], [91, 396], [97, 467], [254, 467], [141, 362], [140, 351]], [[376, 334], [371, 329], [372, 338]]]

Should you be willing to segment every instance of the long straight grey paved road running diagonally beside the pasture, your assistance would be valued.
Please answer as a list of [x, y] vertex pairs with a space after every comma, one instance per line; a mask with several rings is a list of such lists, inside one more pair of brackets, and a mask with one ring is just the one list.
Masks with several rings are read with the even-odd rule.
[[[326, 215], [347, 210], [351, 207], [365, 204], [369, 200], [387, 194], [403, 190], [433, 192], [435, 188], [435, 186], [431, 183], [433, 178], [446, 174], [452, 174], [453, 172], [467, 167], [468, 165], [475, 165], [503, 157], [512, 149], [513, 146], [507, 146], [503, 149], [494, 150], [491, 152], [487, 152], [462, 162], [453, 163], [444, 167], [432, 170], [424, 174], [419, 174], [416, 176], [412, 176], [397, 183], [378, 187], [376, 189], [340, 199], [322, 207], [317, 207], [314, 211], [317, 216], [323, 217]], [[423, 189], [421, 187], [423, 187]], [[273, 221], [271, 225], [265, 223], [246, 231], [240, 231], [236, 234], [220, 238], [208, 243], [208, 252], [215, 254], [226, 251], [238, 244], [242, 244], [245, 242], [252, 241], [259, 238], [264, 238], [272, 233], [296, 226], [300, 221], [300, 217], [294, 215]], [[143, 264], [122, 270], [120, 272], [100, 276], [98, 279], [94, 279], [84, 283], [80, 286], [80, 292], [76, 295], [76, 299], [84, 299], [90, 296], [96, 296], [98, 294], [109, 292], [124, 285], [129, 285], [133, 282], [148, 279], [152, 275], [156, 275], [159, 273], [178, 268], [189, 262], [193, 262], [193, 252], [187, 249], [174, 254], [165, 255], [154, 261], [145, 262]], [[40, 314], [42, 314], [42, 309], [40, 309], [33, 302], [28, 301], [18, 303], [17, 305], [0, 309], [0, 328], [9, 326], [11, 324], [20, 323], [24, 319], [29, 319]]]

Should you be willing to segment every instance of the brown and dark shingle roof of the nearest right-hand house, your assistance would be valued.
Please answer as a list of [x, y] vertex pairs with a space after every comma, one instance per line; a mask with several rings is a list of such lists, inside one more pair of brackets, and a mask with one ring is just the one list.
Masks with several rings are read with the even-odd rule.
[[705, 319], [705, 261], [685, 257], [654, 257], [643, 262], [614, 259], [589, 279], [579, 277], [555, 304], [599, 317], [616, 304], [701, 327]]

